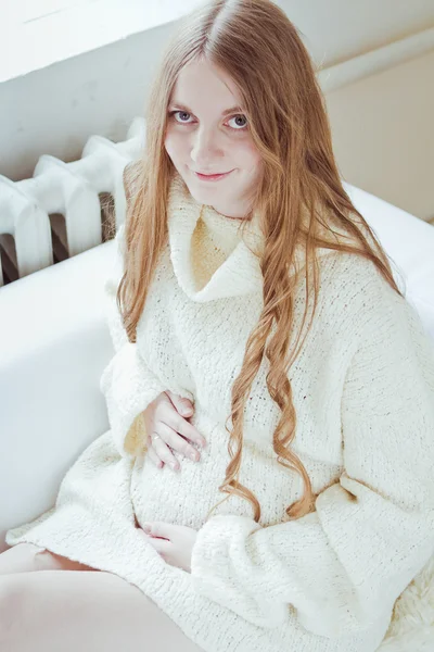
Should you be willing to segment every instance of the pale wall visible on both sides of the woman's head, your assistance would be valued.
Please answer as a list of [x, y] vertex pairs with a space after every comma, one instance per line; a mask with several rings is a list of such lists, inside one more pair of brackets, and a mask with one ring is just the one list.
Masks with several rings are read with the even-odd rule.
[[[434, 217], [434, 43], [426, 46], [433, 0], [279, 4], [316, 63], [344, 65], [353, 78], [324, 88], [343, 177], [421, 218]], [[92, 134], [123, 139], [131, 118], [143, 114], [155, 63], [175, 28], [168, 23], [0, 84], [0, 174], [31, 176], [43, 153], [75, 160]], [[425, 41], [416, 57], [406, 39], [418, 33]], [[390, 43], [404, 62], [382, 55]], [[378, 72], [369, 63], [360, 75], [370, 53], [390, 67]]]

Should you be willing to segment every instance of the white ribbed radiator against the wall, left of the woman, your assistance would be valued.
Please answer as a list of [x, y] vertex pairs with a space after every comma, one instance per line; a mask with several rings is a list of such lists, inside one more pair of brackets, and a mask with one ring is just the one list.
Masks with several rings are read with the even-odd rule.
[[144, 120], [136, 117], [126, 140], [91, 136], [78, 161], [43, 154], [31, 178], [0, 175], [0, 286], [101, 244], [107, 205], [118, 228], [123, 171], [140, 156], [144, 137]]

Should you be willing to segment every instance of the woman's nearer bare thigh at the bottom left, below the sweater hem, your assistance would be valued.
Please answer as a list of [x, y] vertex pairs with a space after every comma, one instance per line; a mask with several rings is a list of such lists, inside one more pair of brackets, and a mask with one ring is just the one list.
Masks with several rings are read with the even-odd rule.
[[139, 588], [86, 570], [0, 576], [0, 650], [201, 652]]

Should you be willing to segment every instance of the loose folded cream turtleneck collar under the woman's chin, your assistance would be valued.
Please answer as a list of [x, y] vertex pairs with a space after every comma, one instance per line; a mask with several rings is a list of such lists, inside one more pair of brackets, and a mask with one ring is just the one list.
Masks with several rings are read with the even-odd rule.
[[[180, 288], [197, 303], [261, 291], [259, 215], [246, 225], [192, 197], [178, 172], [168, 197], [170, 259]], [[241, 226], [245, 228], [240, 231]], [[258, 254], [256, 255], [255, 252]]]

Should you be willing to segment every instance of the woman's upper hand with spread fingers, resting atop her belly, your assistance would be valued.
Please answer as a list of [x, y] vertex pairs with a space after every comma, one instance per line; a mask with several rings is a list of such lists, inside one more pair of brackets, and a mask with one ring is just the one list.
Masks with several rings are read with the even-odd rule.
[[180, 468], [170, 448], [194, 462], [199, 462], [201, 459], [199, 451], [188, 442], [191, 440], [202, 447], [206, 444], [206, 439], [187, 421], [192, 414], [191, 401], [174, 394], [169, 390], [162, 392], [144, 410], [148, 452], [158, 468], [162, 468], [165, 463], [169, 464], [174, 471]]

